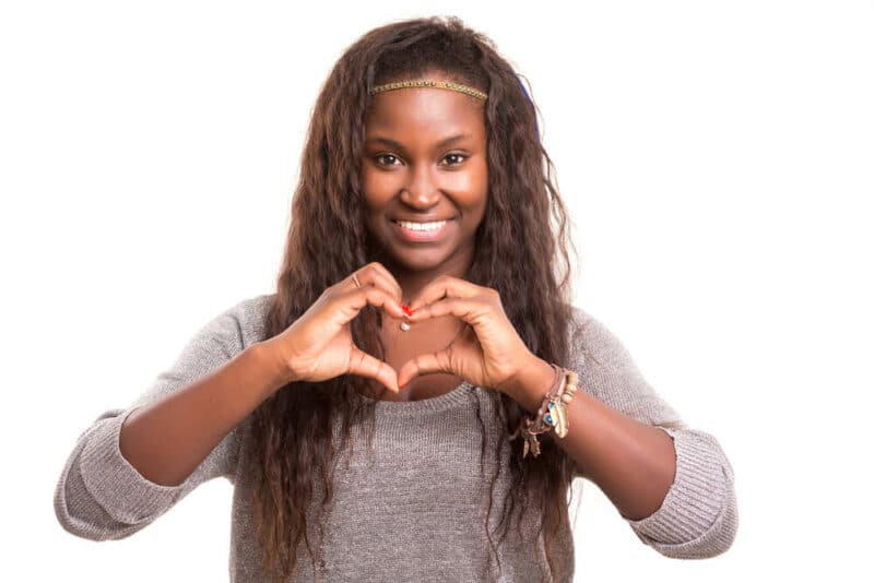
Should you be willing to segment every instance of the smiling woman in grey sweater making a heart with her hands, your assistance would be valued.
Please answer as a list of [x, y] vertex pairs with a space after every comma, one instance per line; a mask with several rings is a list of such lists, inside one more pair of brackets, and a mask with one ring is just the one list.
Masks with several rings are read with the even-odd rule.
[[302, 163], [275, 294], [82, 433], [64, 528], [122, 538], [225, 476], [232, 581], [570, 581], [587, 477], [666, 557], [731, 546], [719, 443], [570, 304], [552, 162], [491, 40], [457, 19], [370, 31]]

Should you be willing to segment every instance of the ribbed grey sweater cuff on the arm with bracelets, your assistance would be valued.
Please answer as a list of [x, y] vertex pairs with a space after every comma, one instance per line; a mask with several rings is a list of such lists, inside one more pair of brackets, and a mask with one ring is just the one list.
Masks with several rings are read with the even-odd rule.
[[626, 521], [656, 543], [678, 545], [701, 537], [727, 504], [731, 485], [719, 447], [695, 430], [657, 426], [674, 440], [676, 474], [661, 508], [651, 515]]

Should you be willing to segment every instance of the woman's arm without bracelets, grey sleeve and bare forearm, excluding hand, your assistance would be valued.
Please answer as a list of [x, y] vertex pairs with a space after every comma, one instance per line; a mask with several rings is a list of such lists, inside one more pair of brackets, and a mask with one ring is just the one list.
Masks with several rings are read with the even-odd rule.
[[55, 490], [68, 532], [123, 538], [198, 485], [233, 475], [240, 421], [283, 380], [262, 344], [244, 349], [260, 306], [245, 300], [206, 323], [137, 402], [79, 437]]

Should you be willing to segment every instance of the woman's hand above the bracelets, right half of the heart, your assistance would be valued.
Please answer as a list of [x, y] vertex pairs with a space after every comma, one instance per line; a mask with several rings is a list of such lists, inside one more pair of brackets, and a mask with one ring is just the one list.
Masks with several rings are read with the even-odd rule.
[[398, 371], [401, 386], [416, 377], [447, 372], [513, 396], [520, 371], [536, 358], [507, 319], [500, 295], [491, 287], [441, 275], [422, 288], [410, 309], [414, 313], [406, 321], [413, 325], [447, 314], [465, 325], [445, 349], [404, 362]]

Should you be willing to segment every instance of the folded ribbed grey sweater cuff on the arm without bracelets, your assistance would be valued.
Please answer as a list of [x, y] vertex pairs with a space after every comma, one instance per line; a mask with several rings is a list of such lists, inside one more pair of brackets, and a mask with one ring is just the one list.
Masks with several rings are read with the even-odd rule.
[[85, 488], [110, 516], [126, 524], [138, 524], [165, 511], [181, 489], [181, 485], [162, 486], [149, 480], [121, 455], [121, 425], [133, 411], [103, 420], [80, 453]]

